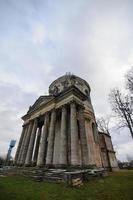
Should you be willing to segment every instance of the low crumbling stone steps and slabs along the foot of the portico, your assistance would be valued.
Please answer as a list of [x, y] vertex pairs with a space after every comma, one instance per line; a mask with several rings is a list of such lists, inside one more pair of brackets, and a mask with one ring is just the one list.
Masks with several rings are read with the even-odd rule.
[[104, 169], [46, 169], [36, 167], [13, 167], [4, 169], [4, 175], [21, 175], [34, 181], [46, 181], [56, 183], [66, 183], [72, 185], [73, 182], [88, 181], [94, 177], [104, 177], [107, 172]]

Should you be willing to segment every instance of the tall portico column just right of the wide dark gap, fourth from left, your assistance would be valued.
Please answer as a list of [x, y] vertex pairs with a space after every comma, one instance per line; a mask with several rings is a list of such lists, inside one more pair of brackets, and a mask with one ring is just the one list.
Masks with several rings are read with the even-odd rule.
[[49, 115], [48, 113], [46, 113], [44, 117], [44, 127], [42, 130], [42, 136], [40, 140], [40, 146], [39, 146], [39, 152], [38, 152], [38, 158], [37, 158], [37, 166], [39, 167], [42, 167], [45, 164], [48, 125], [49, 125]]

